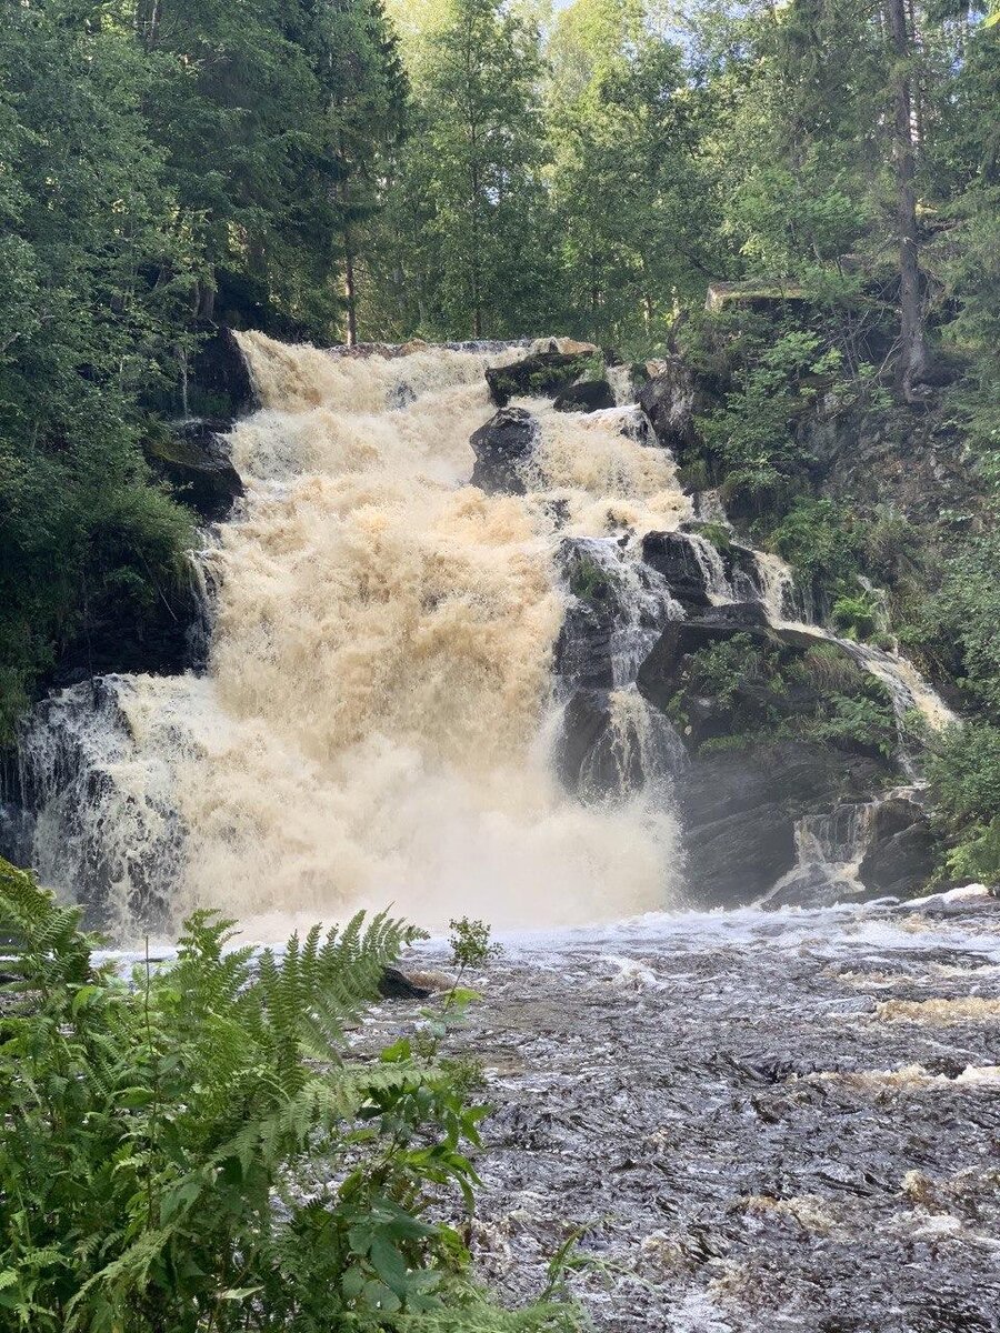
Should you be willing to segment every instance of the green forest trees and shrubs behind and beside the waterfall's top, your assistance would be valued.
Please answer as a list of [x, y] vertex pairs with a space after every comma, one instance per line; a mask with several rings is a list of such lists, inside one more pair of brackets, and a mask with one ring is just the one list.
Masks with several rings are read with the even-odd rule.
[[[197, 351], [220, 321], [683, 349], [713, 387], [685, 480], [720, 485], [821, 615], [899, 639], [996, 725], [995, 20], [983, 0], [7, 4], [0, 734], [95, 625], [183, 596], [191, 520], [147, 455], [164, 417], [219, 411]], [[895, 413], [900, 448], [921, 415], [951, 423], [993, 499], [915, 532], [819, 495], [801, 425], [831, 404], [859, 429]]]

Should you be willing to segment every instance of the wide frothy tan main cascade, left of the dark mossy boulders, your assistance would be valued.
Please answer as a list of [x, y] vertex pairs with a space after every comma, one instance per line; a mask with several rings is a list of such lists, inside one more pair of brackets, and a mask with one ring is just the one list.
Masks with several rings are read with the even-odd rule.
[[84, 685], [29, 718], [41, 876], [88, 902], [104, 885], [119, 937], [195, 906], [259, 937], [387, 902], [429, 928], [663, 906], [663, 792], [655, 814], [583, 804], [549, 753], [560, 541], [689, 513], [636, 409], [541, 408], [528, 493], [485, 495], [484, 368], [523, 348], [240, 343], [263, 405], [231, 437], [247, 496], [207, 557], [208, 674], [108, 677], [96, 706]]

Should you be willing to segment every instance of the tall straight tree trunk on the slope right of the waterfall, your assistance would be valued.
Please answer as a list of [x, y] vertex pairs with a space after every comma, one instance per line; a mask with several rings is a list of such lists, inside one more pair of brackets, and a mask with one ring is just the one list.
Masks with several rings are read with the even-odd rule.
[[900, 271], [900, 356], [897, 380], [907, 401], [927, 368], [924, 301], [917, 249], [913, 127], [911, 121], [909, 60], [913, 49], [907, 25], [907, 0], [885, 0], [892, 51], [896, 169], [896, 233]]

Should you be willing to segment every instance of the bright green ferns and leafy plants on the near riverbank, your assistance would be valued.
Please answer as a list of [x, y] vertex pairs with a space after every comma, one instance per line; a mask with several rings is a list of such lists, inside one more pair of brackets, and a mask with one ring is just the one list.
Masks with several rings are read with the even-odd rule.
[[428, 1214], [471, 1205], [483, 1108], [433, 1049], [349, 1053], [404, 926], [356, 917], [255, 956], [199, 913], [175, 962], [127, 982], [77, 916], [0, 861], [3, 1328], [575, 1326], [493, 1306]]

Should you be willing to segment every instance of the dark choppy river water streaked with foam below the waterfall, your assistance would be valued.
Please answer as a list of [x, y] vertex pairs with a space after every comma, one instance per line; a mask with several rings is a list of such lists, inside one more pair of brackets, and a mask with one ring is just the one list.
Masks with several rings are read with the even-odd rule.
[[475, 1249], [512, 1298], [580, 1229], [605, 1333], [1000, 1329], [996, 900], [509, 937], [481, 989], [449, 1048], [485, 1066]]

